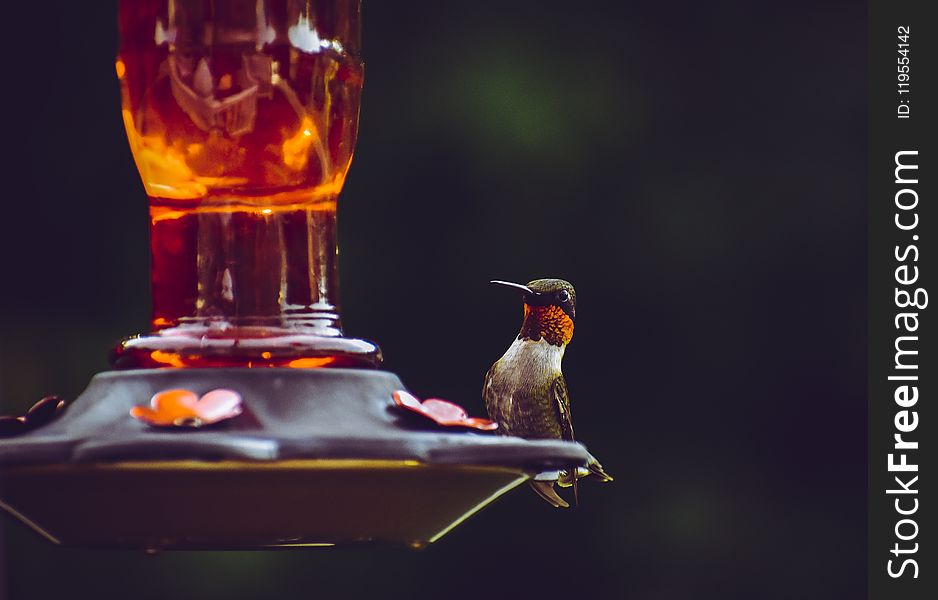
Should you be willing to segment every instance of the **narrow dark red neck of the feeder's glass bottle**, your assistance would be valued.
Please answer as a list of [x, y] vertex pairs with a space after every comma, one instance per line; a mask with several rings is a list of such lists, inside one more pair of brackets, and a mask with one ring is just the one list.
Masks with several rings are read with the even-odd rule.
[[151, 204], [153, 329], [272, 327], [339, 336], [334, 199], [303, 207]]

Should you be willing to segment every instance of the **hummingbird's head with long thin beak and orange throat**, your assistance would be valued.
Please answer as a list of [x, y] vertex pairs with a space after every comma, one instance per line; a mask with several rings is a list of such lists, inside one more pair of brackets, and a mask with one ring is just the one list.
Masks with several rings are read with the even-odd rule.
[[524, 322], [520, 340], [544, 339], [554, 346], [566, 346], [573, 339], [576, 320], [576, 292], [563, 279], [535, 279], [527, 285], [510, 281], [492, 281], [517, 290], [524, 300]]

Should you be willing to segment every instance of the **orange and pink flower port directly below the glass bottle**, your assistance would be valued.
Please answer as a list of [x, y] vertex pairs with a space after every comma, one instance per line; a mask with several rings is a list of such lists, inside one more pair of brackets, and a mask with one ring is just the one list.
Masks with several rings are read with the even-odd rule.
[[164, 390], [153, 396], [150, 406], [130, 409], [130, 416], [153, 427], [203, 427], [240, 414], [241, 394], [225, 389], [201, 398], [190, 390]]

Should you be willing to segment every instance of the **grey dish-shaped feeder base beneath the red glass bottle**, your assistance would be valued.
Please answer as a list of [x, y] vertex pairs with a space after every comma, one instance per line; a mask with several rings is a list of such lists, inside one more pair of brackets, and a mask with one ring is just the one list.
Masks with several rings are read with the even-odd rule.
[[[242, 413], [200, 429], [130, 416], [161, 391], [228, 388]], [[96, 375], [51, 423], [0, 440], [0, 508], [70, 546], [423, 547], [580, 444], [442, 427], [374, 369], [144, 369]]]

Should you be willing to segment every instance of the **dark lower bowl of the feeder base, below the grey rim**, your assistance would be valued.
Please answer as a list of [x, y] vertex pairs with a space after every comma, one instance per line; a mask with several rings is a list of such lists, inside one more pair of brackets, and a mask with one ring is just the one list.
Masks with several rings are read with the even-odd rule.
[[4, 508], [58, 544], [147, 550], [422, 548], [527, 475], [413, 461], [125, 462], [2, 470]]

